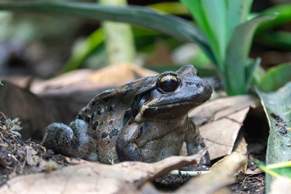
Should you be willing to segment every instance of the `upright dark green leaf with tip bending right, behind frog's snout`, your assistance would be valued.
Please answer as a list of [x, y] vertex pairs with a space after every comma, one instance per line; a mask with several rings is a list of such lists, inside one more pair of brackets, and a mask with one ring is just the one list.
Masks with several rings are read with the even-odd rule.
[[225, 90], [228, 95], [246, 93], [245, 66], [248, 60], [252, 38], [257, 26], [266, 20], [274, 19], [276, 14], [258, 16], [238, 25], [228, 43], [225, 60]]

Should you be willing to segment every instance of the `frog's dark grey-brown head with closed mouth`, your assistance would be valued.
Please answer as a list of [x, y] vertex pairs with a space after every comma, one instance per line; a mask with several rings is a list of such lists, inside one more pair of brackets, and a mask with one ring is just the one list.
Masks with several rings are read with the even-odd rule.
[[176, 72], [163, 72], [151, 87], [136, 96], [135, 120], [159, 116], [171, 119], [187, 115], [190, 110], [209, 100], [212, 87], [201, 79], [193, 65], [183, 66]]

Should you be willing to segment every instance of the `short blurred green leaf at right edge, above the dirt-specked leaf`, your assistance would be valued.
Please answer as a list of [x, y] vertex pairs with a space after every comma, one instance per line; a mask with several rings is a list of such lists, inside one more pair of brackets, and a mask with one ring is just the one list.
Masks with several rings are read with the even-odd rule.
[[291, 63], [283, 63], [268, 69], [261, 79], [258, 88], [264, 92], [278, 90], [288, 81], [291, 81]]

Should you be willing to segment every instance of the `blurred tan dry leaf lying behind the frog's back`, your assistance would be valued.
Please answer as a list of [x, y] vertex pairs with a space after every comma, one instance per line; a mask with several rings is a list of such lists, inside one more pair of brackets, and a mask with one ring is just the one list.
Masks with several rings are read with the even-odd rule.
[[157, 75], [157, 72], [141, 68], [134, 64], [121, 63], [106, 66], [102, 69], [78, 69], [64, 73], [45, 81], [35, 81], [31, 91], [39, 94], [46, 90], [74, 88], [75, 90], [93, 90], [113, 88], [139, 78]]

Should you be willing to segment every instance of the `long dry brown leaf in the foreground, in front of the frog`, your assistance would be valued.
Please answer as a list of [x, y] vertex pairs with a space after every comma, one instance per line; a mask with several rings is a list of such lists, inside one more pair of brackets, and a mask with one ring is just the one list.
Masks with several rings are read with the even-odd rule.
[[172, 156], [156, 163], [114, 165], [89, 162], [49, 173], [21, 175], [0, 187], [0, 193], [137, 193], [136, 188], [167, 172], [198, 163], [206, 149], [192, 156]]

